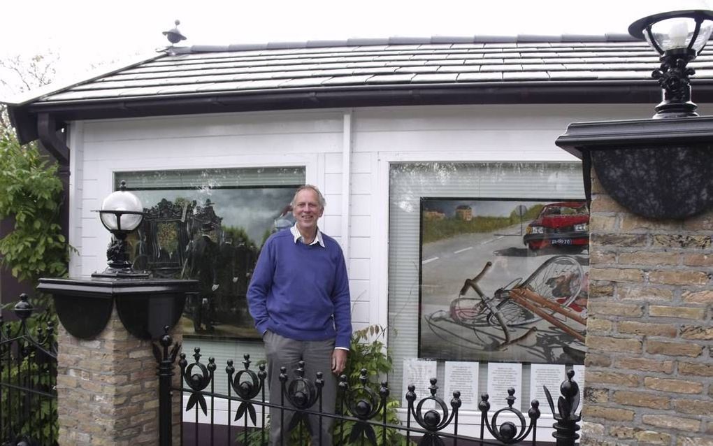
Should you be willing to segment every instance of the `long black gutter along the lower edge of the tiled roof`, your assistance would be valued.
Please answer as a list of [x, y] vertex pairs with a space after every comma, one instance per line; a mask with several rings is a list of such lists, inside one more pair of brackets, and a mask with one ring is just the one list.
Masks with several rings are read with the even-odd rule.
[[[58, 122], [100, 118], [171, 116], [235, 111], [291, 110], [370, 106], [458, 104], [651, 103], [660, 101], [655, 81], [533, 81], [361, 85], [284, 88], [233, 93], [34, 102], [8, 107], [22, 142], [37, 138], [39, 113]], [[713, 102], [713, 82], [694, 84], [694, 99]]]

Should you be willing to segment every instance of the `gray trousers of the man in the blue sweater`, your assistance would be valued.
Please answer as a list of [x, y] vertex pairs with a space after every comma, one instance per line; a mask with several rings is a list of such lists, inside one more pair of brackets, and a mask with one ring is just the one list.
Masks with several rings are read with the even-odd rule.
[[[287, 368], [287, 386], [297, 375], [297, 363], [304, 361], [304, 377], [314, 382], [317, 372], [322, 372], [324, 387], [322, 388], [322, 412], [334, 413], [334, 405], [337, 400], [337, 377], [332, 373], [332, 353], [334, 352], [334, 340], [322, 341], [302, 341], [284, 338], [277, 333], [267, 330], [262, 338], [265, 341], [265, 353], [267, 354], [267, 382], [270, 385], [270, 403], [280, 405], [284, 401], [285, 407], [292, 407], [285, 396], [281, 396], [281, 382], [279, 382], [279, 369]], [[309, 410], [319, 411], [319, 401]], [[270, 445], [289, 446], [289, 420], [294, 412], [280, 410], [277, 407], [270, 407]], [[320, 442], [319, 422], [322, 420], [322, 430]], [[284, 420], [284, 426], [283, 426]], [[309, 416], [309, 430], [312, 432], [313, 446], [332, 446], [332, 424], [330, 417]], [[280, 442], [280, 437], [283, 442]], [[302, 446], [302, 445], [300, 445]]]

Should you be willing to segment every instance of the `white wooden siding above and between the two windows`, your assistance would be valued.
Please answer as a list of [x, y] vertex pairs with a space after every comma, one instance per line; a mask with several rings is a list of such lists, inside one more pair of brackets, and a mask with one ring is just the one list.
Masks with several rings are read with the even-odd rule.
[[[105, 266], [109, 235], [92, 212], [113, 173], [183, 168], [305, 166], [327, 198], [320, 223], [344, 245], [354, 326], [386, 325], [389, 166], [403, 161], [566, 161], [555, 139], [573, 121], [639, 118], [642, 105], [498, 105], [225, 113], [73, 123], [73, 275]], [[344, 139], [351, 118], [352, 137]], [[344, 144], [352, 148], [344, 182]], [[344, 185], [349, 215], [344, 216]], [[348, 225], [344, 225], [347, 218]], [[344, 228], [349, 239], [342, 240]]]

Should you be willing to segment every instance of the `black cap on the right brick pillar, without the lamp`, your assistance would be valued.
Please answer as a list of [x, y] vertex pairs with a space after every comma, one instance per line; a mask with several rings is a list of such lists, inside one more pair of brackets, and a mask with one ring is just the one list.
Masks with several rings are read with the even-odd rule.
[[713, 208], [713, 116], [571, 123], [555, 143], [645, 218], [689, 218]]

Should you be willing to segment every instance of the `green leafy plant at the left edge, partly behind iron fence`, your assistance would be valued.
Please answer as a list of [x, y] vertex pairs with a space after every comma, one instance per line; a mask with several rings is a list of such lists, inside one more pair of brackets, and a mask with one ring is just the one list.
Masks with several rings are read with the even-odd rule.
[[[59, 209], [62, 184], [56, 175], [57, 167], [41, 155], [36, 145], [21, 146], [9, 128], [0, 128], [0, 219], [13, 218], [13, 230], [0, 239], [0, 266], [8, 268], [19, 280], [36, 285], [41, 277], [63, 277], [67, 274], [68, 244], [61, 233]], [[39, 336], [39, 328], [49, 323], [57, 325], [52, 300], [47, 295], [36, 295], [32, 305], [36, 313], [25, 321], [28, 333]], [[12, 308], [14, 303], [4, 305]], [[17, 333], [19, 322], [5, 323], [6, 333]], [[2, 368], [0, 380], [21, 382], [31, 376], [34, 385], [45, 392], [56, 385], [56, 363], [40, 359], [36, 352], [18, 356], [19, 349], [3, 346], [3, 359], [19, 367]], [[11, 356], [12, 359], [6, 359]], [[20, 376], [22, 375], [22, 377]], [[26, 382], [26, 381], [24, 381]], [[21, 398], [0, 402], [6, 413], [28, 412], [29, 401]], [[21, 417], [16, 427], [24, 435], [36, 437], [39, 432], [45, 444], [56, 444], [57, 405], [43, 400], [39, 409], [34, 405], [33, 416]], [[6, 419], [8, 421], [9, 419]]]

